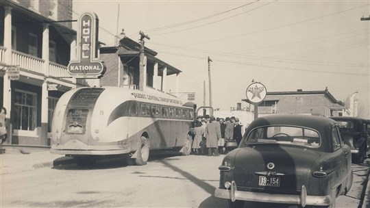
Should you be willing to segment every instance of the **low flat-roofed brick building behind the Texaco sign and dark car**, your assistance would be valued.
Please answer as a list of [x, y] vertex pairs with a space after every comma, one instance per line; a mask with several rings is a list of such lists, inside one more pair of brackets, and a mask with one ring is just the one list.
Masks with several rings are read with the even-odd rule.
[[[247, 100], [243, 100], [246, 101]], [[310, 114], [317, 116], [349, 116], [342, 101], [337, 101], [325, 90], [292, 92], [267, 92], [258, 105], [258, 115], [264, 114]]]

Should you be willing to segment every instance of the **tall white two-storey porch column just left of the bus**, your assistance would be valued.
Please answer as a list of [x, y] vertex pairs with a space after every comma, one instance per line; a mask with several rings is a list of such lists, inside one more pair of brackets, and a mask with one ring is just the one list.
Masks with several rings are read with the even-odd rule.
[[47, 90], [47, 78], [49, 77], [49, 24], [44, 24], [42, 31], [42, 60], [45, 62], [42, 64], [42, 70], [45, 75], [44, 82], [42, 83], [41, 92], [41, 131], [40, 131], [40, 145], [47, 145], [47, 118], [48, 118], [48, 96]]

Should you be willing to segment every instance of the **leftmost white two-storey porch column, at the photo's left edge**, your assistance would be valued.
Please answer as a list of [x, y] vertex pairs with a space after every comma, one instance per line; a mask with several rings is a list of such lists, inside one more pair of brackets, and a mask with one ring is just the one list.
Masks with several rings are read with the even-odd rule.
[[[12, 65], [12, 8], [5, 6], [4, 16], [4, 62], [7, 65]], [[3, 107], [5, 107], [7, 111], [6, 125], [8, 127], [8, 135], [10, 135], [12, 131], [10, 127], [10, 112], [12, 110], [12, 88], [10, 86], [10, 79], [8, 78], [8, 71], [5, 73], [3, 79]], [[10, 144], [11, 140], [12, 138], [9, 137]]]

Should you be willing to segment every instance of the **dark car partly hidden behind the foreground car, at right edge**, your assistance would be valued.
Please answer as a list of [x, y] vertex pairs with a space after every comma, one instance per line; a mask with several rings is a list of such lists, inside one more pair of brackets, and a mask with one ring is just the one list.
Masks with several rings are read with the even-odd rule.
[[367, 131], [367, 120], [354, 117], [330, 117], [339, 123], [342, 138], [350, 148], [353, 162], [361, 164], [364, 162], [369, 151], [369, 138]]

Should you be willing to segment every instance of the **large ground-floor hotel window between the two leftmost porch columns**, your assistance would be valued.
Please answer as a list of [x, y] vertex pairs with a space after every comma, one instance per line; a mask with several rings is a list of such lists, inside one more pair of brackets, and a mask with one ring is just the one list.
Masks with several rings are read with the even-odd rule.
[[37, 120], [37, 94], [16, 90], [14, 99], [14, 129], [34, 131]]

